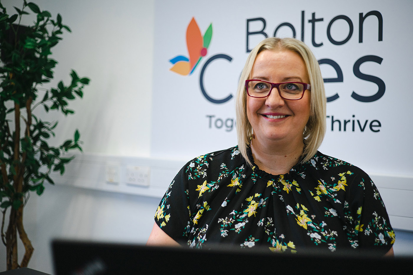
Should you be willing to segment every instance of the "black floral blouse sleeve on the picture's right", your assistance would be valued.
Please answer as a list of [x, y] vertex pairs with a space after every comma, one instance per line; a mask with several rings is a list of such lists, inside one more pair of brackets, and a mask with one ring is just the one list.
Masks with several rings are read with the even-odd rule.
[[379, 191], [370, 177], [361, 172], [354, 178], [349, 193], [352, 245], [385, 254], [394, 244], [394, 231]]

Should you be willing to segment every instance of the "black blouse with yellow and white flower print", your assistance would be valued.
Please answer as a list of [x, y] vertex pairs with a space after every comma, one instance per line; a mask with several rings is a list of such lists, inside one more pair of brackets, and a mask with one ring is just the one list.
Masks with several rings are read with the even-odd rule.
[[[249, 149], [249, 157], [251, 150]], [[317, 152], [290, 173], [250, 167], [238, 147], [199, 156], [176, 175], [155, 222], [177, 242], [268, 247], [378, 249], [395, 236], [385, 205], [360, 168]]]

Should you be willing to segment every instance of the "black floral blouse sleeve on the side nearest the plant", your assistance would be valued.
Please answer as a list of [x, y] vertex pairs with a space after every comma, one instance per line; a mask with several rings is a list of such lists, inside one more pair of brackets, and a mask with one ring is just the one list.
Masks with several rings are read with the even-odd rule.
[[[188, 163], [189, 164], [189, 163]], [[172, 239], [186, 243], [189, 228], [188, 175], [186, 164], [172, 180], [155, 212], [155, 223]]]

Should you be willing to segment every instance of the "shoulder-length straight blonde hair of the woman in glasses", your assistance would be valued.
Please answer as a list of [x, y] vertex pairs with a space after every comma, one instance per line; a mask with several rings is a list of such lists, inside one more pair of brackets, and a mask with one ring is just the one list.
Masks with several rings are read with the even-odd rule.
[[245, 81], [249, 79], [252, 66], [260, 52], [265, 50], [281, 51], [290, 50], [297, 52], [306, 65], [311, 85], [311, 111], [310, 118], [304, 129], [304, 151], [301, 162], [306, 162], [316, 154], [318, 147], [325, 135], [325, 91], [323, 77], [321, 76], [320, 66], [316, 57], [310, 48], [300, 40], [294, 38], [266, 38], [256, 45], [254, 50], [249, 53], [247, 62], [241, 73], [240, 82], [238, 83], [237, 95], [235, 97], [235, 112], [237, 115], [237, 139], [239, 150], [252, 166], [252, 160], [247, 156], [247, 147], [250, 145], [252, 136], [252, 126], [247, 118], [247, 92], [245, 90]]

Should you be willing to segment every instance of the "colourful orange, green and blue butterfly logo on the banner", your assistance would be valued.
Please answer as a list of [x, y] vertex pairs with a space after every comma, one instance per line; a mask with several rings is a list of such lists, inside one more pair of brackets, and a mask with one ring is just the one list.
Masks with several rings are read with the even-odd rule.
[[186, 46], [188, 48], [189, 59], [183, 55], [172, 58], [169, 62], [171, 62], [173, 66], [169, 70], [183, 76], [192, 74], [202, 57], [207, 55], [211, 38], [212, 23], [209, 24], [207, 31], [205, 31], [204, 36], [202, 36], [195, 18], [192, 17], [188, 28], [186, 28]]

